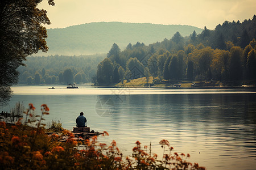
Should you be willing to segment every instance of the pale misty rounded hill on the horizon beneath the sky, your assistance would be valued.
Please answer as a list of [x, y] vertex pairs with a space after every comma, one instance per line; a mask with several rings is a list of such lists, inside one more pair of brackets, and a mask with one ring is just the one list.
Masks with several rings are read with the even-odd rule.
[[89, 23], [48, 29], [49, 51], [40, 52], [37, 56], [108, 53], [114, 42], [123, 50], [129, 42], [136, 44], [139, 41], [148, 45], [163, 41], [165, 38], [170, 39], [177, 31], [182, 36], [189, 36], [194, 30], [201, 33], [203, 29], [189, 25], [120, 22]]

